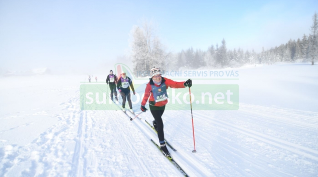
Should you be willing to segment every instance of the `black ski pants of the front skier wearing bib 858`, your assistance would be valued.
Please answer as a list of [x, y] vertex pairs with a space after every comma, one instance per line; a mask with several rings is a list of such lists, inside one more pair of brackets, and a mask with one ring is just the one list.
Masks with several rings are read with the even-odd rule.
[[155, 123], [157, 124], [157, 133], [158, 133], [158, 138], [159, 141], [164, 141], [165, 140], [165, 134], [164, 134], [164, 122], [162, 119], [162, 116], [165, 112], [165, 106], [152, 106], [149, 104], [150, 112], [154, 118]]

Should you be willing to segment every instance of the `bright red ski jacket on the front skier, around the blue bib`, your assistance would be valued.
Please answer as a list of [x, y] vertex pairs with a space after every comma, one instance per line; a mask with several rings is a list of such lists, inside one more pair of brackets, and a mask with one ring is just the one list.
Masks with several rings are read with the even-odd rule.
[[[162, 77], [161, 84], [163, 84], [163, 83], [166, 83], [167, 89], [169, 87], [171, 87], [171, 88], [185, 88], [185, 85], [184, 85], [185, 82], [176, 82], [176, 81], [173, 81], [171, 79], [164, 78], [164, 77]], [[144, 106], [147, 103], [147, 100], [149, 98], [149, 104], [150, 105], [153, 105], [153, 106], [165, 106], [168, 103], [168, 99], [164, 100], [164, 101], [156, 102], [154, 104], [154, 98], [153, 98], [153, 94], [152, 94], [151, 85], [154, 85], [156, 87], [160, 86], [160, 85], [157, 85], [157, 84], [153, 83], [152, 79], [150, 79], [150, 81], [146, 85], [146, 89], [144, 90], [144, 96], [142, 98], [141, 105]]]

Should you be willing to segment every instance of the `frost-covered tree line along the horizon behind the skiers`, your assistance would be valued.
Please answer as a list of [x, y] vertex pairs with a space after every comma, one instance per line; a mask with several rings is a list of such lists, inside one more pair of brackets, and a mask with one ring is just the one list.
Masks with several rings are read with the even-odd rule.
[[312, 17], [310, 34], [303, 35], [301, 39], [289, 40], [286, 44], [272, 47], [261, 52], [243, 49], [229, 50], [225, 39], [220, 46], [211, 45], [206, 51], [192, 47], [176, 54], [167, 52], [160, 39], [155, 36], [150, 23], [144, 22], [142, 27], [132, 30], [131, 58], [133, 70], [138, 76], [148, 76], [153, 66], [163, 70], [178, 70], [179, 68], [197, 69], [200, 67], [237, 68], [246, 64], [270, 64], [275, 62], [311, 61], [314, 64], [318, 56], [318, 17]]

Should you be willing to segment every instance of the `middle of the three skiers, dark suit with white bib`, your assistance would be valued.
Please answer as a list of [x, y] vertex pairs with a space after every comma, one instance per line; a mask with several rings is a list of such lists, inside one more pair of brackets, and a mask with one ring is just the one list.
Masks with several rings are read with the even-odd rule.
[[130, 86], [133, 94], [135, 94], [136, 92], [135, 92], [135, 89], [133, 88], [131, 79], [128, 76], [126, 76], [125, 72], [123, 72], [121, 74], [121, 77], [118, 79], [118, 82], [117, 82], [117, 89], [122, 97], [122, 110], [125, 111], [125, 104], [126, 104], [126, 98], [127, 98], [128, 105], [129, 105], [129, 111], [131, 113], [133, 113], [132, 104], [131, 104], [131, 100], [130, 100], [129, 86]]

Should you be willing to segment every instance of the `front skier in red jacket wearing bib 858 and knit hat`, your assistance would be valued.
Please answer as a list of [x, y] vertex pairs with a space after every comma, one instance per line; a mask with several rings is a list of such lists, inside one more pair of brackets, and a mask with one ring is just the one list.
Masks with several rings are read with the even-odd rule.
[[152, 121], [154, 129], [157, 131], [160, 147], [166, 156], [170, 156], [165, 142], [164, 123], [162, 115], [164, 114], [166, 104], [168, 103], [167, 89], [191, 87], [192, 81], [188, 79], [186, 82], [175, 82], [171, 79], [161, 76], [162, 72], [159, 68], [153, 67], [150, 71], [151, 78], [146, 85], [144, 96], [141, 102], [141, 111], [146, 112], [146, 102], [149, 98], [150, 112], [154, 118]]

